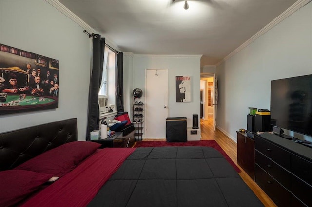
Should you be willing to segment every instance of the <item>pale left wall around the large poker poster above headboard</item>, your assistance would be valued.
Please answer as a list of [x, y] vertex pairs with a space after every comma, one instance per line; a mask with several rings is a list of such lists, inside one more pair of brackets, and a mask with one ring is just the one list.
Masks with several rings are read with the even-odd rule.
[[0, 116], [0, 132], [78, 118], [85, 140], [90, 79], [88, 35], [42, 0], [0, 0], [0, 43], [59, 60], [59, 108]]

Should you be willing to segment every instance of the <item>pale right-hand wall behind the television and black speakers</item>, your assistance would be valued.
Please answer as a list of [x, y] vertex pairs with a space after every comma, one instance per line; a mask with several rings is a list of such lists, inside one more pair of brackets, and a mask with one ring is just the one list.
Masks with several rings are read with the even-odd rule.
[[248, 107], [270, 109], [271, 80], [312, 74], [312, 2], [217, 67], [217, 127], [236, 141]]

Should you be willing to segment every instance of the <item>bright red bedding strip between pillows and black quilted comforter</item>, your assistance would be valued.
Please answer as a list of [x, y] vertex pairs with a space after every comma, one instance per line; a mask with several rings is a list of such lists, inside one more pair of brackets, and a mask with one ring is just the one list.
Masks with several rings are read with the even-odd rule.
[[23, 207], [84, 207], [136, 148], [98, 150], [76, 169], [22, 204]]

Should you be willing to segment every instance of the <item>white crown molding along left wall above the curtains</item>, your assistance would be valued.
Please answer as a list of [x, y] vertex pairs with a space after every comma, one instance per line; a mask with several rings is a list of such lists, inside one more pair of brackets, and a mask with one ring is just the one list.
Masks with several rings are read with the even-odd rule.
[[[84, 22], [81, 18], [75, 15], [72, 11], [70, 11], [67, 7], [61, 4], [58, 0], [45, 0], [45, 1], [51, 4], [57, 10], [59, 10], [60, 13], [64, 14], [66, 17], [70, 18], [72, 21], [78, 24], [78, 26], [82, 27], [83, 30], [86, 30], [88, 33], [91, 33], [91, 34], [92, 33], [100, 34], [96, 30], [94, 30], [92, 27], [90, 27], [86, 22]], [[101, 35], [101, 36], [104, 36], [104, 35]], [[119, 50], [113, 41], [111, 41], [107, 37], [104, 37], [104, 38], [105, 38], [106, 44], [108, 44], [112, 48], [116, 48], [116, 50]]]

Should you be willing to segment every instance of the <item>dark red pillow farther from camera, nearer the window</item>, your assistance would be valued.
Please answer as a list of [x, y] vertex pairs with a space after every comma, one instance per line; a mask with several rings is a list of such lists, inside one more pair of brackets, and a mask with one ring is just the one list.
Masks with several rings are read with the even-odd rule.
[[38, 155], [15, 169], [48, 173], [62, 177], [81, 161], [93, 154], [101, 144], [91, 141], [73, 141]]

